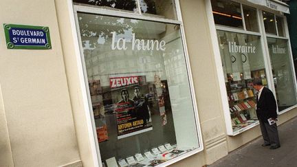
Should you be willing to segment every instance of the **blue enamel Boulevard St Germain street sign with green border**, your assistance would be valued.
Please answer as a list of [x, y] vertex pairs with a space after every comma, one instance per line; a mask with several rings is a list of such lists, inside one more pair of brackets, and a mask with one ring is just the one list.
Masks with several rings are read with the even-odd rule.
[[8, 49], [52, 49], [49, 27], [3, 24]]

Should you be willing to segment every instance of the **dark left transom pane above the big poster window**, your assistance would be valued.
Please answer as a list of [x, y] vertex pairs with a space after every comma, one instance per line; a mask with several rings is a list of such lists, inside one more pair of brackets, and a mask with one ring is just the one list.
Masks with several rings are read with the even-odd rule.
[[137, 12], [137, 5], [135, 0], [73, 0], [74, 3], [85, 5], [95, 5], [109, 10], [127, 10]]

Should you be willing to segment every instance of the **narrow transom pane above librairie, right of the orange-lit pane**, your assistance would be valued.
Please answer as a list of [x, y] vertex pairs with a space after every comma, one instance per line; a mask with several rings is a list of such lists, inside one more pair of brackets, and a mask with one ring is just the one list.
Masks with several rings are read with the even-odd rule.
[[246, 30], [252, 32], [259, 32], [256, 9], [243, 5], [243, 15], [245, 18]]

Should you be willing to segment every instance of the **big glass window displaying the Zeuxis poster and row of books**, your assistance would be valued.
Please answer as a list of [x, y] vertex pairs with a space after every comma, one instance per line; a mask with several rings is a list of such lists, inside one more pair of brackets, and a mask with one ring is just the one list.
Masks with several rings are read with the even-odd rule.
[[102, 164], [201, 148], [179, 25], [82, 12], [78, 24]]

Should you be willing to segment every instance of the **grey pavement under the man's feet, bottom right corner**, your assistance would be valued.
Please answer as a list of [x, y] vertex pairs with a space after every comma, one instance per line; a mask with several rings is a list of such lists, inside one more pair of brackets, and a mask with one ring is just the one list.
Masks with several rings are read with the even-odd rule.
[[232, 151], [208, 167], [222, 166], [297, 166], [297, 118], [278, 126], [281, 148], [263, 147], [262, 136]]

